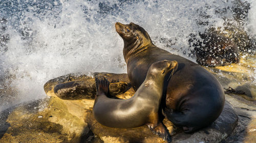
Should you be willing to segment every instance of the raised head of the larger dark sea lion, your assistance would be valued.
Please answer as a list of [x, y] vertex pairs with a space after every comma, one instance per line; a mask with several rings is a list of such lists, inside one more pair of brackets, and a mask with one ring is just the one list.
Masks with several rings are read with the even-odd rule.
[[[141, 26], [131, 22], [130, 24], [122, 24], [116, 22], [116, 32], [122, 37], [124, 48], [133, 48], [136, 45], [146, 45], [152, 43], [150, 35]], [[141, 44], [142, 43], [142, 44]]]

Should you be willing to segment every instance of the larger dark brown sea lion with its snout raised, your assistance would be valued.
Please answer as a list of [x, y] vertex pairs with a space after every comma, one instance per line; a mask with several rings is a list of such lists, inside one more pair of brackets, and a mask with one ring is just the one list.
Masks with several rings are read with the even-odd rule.
[[214, 75], [194, 62], [158, 48], [137, 24], [117, 22], [115, 26], [124, 42], [127, 74], [135, 90], [140, 87], [153, 63], [161, 60], [178, 62], [175, 76], [168, 82], [164, 81], [160, 106], [168, 120], [189, 133], [208, 126], [219, 117], [225, 96]]

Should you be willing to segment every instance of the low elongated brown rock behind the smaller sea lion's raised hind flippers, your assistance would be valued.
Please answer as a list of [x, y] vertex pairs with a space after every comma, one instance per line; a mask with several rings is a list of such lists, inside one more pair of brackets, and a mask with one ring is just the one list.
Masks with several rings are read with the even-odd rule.
[[[120, 95], [131, 88], [127, 74], [92, 73], [90, 75], [63, 75], [47, 81], [44, 90], [47, 95], [54, 95], [64, 100], [95, 99], [94, 77], [105, 77], [111, 81], [110, 95]], [[120, 81], [119, 81], [120, 79]]]

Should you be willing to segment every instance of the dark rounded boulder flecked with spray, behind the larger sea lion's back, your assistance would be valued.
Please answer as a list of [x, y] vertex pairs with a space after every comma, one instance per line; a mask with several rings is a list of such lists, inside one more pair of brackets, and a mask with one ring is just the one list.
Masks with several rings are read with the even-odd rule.
[[199, 35], [203, 41], [193, 34], [190, 34], [189, 39], [189, 44], [194, 47], [198, 64], [215, 67], [239, 63], [238, 46], [229, 38], [216, 33], [199, 33]]

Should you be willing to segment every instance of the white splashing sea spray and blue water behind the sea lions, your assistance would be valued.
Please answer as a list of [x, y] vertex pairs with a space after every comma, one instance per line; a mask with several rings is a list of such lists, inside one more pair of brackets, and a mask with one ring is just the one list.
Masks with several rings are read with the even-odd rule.
[[[234, 20], [236, 1], [0, 1], [0, 111], [45, 98], [44, 84], [58, 76], [126, 73], [117, 21], [141, 25], [158, 47], [195, 62], [189, 35]], [[243, 26], [256, 39], [256, 2], [241, 2], [250, 4]]]

